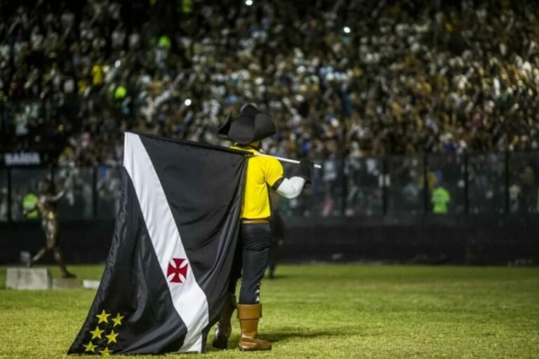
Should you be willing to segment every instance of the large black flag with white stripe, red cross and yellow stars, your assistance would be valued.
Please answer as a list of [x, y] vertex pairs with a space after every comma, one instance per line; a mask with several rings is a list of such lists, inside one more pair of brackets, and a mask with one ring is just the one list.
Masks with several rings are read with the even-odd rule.
[[245, 154], [126, 133], [121, 205], [69, 354], [201, 352], [239, 232]]

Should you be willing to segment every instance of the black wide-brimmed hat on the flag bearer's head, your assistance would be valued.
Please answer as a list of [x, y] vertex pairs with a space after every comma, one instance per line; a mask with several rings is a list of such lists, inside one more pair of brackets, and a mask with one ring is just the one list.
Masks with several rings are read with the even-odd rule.
[[241, 109], [237, 118], [232, 118], [232, 112], [230, 112], [225, 124], [217, 130], [218, 137], [239, 144], [250, 144], [253, 141], [275, 135], [275, 133], [277, 130], [272, 118], [252, 104]]

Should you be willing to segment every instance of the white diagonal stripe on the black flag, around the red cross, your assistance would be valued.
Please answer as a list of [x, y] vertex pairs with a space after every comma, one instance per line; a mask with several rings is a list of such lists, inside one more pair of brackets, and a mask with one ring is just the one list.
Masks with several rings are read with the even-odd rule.
[[[180, 352], [201, 352], [202, 330], [208, 325], [206, 294], [194, 278], [178, 227], [152, 160], [138, 135], [126, 133], [125, 136], [124, 167], [133, 182], [149, 237], [171, 292], [174, 308], [187, 327], [187, 335]], [[183, 283], [168, 281], [167, 268], [172, 258], [187, 260], [187, 277]]]

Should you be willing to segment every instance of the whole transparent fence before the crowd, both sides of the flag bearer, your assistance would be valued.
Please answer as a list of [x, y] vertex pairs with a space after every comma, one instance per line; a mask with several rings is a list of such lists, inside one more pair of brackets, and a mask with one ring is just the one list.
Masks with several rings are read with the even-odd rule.
[[[315, 161], [312, 186], [294, 200], [275, 201], [286, 215], [359, 217], [539, 212], [539, 153], [332, 158]], [[287, 175], [293, 166], [286, 165]], [[0, 222], [25, 217], [37, 183], [69, 184], [58, 204], [63, 220], [114, 219], [119, 168], [0, 169]], [[277, 199], [277, 198], [276, 198]]]

